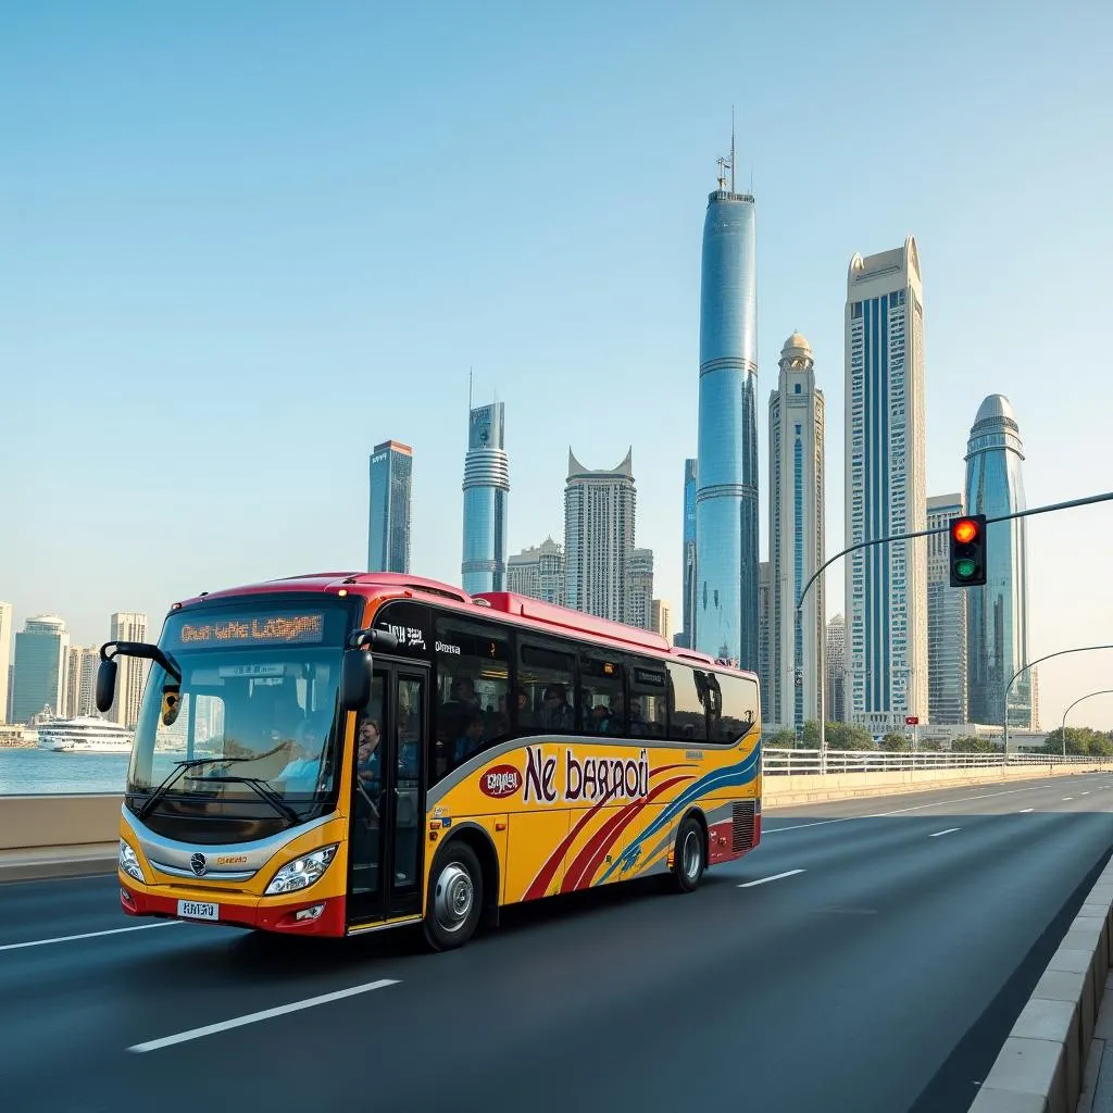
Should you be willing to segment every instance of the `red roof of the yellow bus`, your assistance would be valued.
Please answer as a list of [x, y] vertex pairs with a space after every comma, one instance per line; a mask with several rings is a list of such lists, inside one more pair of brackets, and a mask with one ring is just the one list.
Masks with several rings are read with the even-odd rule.
[[718, 660], [708, 653], [672, 646], [667, 638], [652, 630], [643, 630], [623, 622], [597, 618], [583, 611], [546, 603], [543, 600], [533, 599], [531, 595], [520, 595], [511, 591], [486, 591], [477, 595], [469, 595], [461, 588], [441, 580], [410, 575], [404, 572], [308, 572], [282, 580], [265, 580], [259, 583], [228, 588], [223, 591], [201, 592], [175, 603], [173, 610], [218, 599], [243, 598], [244, 595], [279, 592], [339, 594], [342, 591], [368, 600], [380, 597], [424, 598], [431, 602], [435, 600], [442, 604], [455, 604], [452, 609], [456, 611], [465, 611], [471, 607], [482, 608], [505, 615], [519, 627], [549, 630], [554, 633], [563, 632], [573, 637], [579, 634], [612, 646], [621, 644], [631, 650], [649, 650], [676, 660], [713, 664], [716, 668], [729, 669], [731, 672], [756, 678], [756, 673], [752, 671], [739, 669], [737, 666]]

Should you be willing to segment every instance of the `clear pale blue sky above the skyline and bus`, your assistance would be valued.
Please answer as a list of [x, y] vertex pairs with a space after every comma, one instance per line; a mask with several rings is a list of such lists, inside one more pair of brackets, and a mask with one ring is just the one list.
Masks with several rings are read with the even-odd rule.
[[[968, 8], [6, 4], [0, 598], [91, 643], [117, 609], [364, 567], [387, 437], [415, 450], [415, 571], [459, 581], [472, 366], [506, 403], [511, 550], [560, 539], [570, 445], [605, 467], [632, 444], [638, 542], [679, 610], [731, 105], [762, 397], [796, 328], [827, 396], [828, 551], [846, 267], [909, 233], [929, 493], [961, 489], [997, 391], [1031, 504], [1113, 486], [1113, 93], [1090, 46], [1113, 10]], [[1111, 541], [1109, 506], [1031, 523], [1031, 656], [1113, 642]], [[830, 613], [841, 595], [834, 571]], [[1111, 666], [1046, 666], [1044, 725]], [[1113, 698], [1072, 719], [1113, 727]]]

